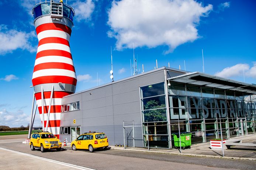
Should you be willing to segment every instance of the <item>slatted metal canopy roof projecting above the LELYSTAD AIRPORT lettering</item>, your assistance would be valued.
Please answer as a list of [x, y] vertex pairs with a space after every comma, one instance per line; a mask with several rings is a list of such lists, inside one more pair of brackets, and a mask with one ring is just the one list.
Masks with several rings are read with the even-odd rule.
[[234, 90], [250, 94], [256, 94], [256, 86], [248, 83], [237, 82], [223, 77], [208, 75], [200, 72], [186, 73], [184, 75], [170, 77], [167, 80], [179, 83], [187, 83], [198, 86], [221, 88], [224, 90]]

